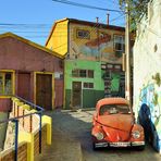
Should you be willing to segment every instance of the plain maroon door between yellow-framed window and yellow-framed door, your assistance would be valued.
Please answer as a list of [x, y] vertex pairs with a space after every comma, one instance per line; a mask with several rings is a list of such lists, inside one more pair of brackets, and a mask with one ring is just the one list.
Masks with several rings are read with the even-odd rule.
[[30, 73], [17, 74], [17, 96], [30, 101]]

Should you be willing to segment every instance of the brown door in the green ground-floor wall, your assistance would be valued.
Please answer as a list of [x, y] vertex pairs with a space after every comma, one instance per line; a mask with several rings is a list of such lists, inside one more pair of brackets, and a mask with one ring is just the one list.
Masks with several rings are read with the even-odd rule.
[[82, 82], [73, 82], [72, 90], [72, 106], [82, 107]]

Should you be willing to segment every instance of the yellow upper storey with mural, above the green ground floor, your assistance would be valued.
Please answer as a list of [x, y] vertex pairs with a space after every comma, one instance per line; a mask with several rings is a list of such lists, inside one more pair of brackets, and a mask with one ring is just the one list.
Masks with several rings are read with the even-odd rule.
[[47, 48], [70, 59], [121, 63], [125, 28], [74, 18], [57, 21]]

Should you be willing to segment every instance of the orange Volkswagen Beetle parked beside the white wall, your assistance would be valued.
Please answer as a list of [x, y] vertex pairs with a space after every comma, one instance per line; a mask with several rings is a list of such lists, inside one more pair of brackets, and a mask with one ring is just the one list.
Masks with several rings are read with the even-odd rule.
[[134, 113], [124, 98], [104, 98], [97, 102], [92, 117], [92, 147], [145, 148], [144, 128], [135, 123]]

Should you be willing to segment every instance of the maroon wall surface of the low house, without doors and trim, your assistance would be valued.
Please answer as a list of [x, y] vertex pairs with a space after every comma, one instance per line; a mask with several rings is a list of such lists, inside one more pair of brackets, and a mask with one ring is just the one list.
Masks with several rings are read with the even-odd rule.
[[[29, 72], [32, 74], [30, 78], [33, 79], [33, 72], [63, 72], [60, 61], [62, 61], [60, 58], [14, 37], [0, 38], [0, 70], [15, 70], [16, 73], [18, 71]], [[15, 82], [17, 82], [17, 77], [15, 77]], [[57, 83], [55, 81], [54, 86], [57, 86]], [[58, 85], [63, 87], [63, 79], [59, 81]], [[30, 86], [30, 98], [33, 100], [34, 79]], [[62, 89], [59, 90], [59, 92], [63, 96]], [[59, 100], [54, 100], [55, 107], [63, 103], [62, 97], [58, 99]], [[0, 100], [0, 104], [2, 103], [4, 104], [4, 102]], [[8, 108], [5, 107], [5, 109]]]

